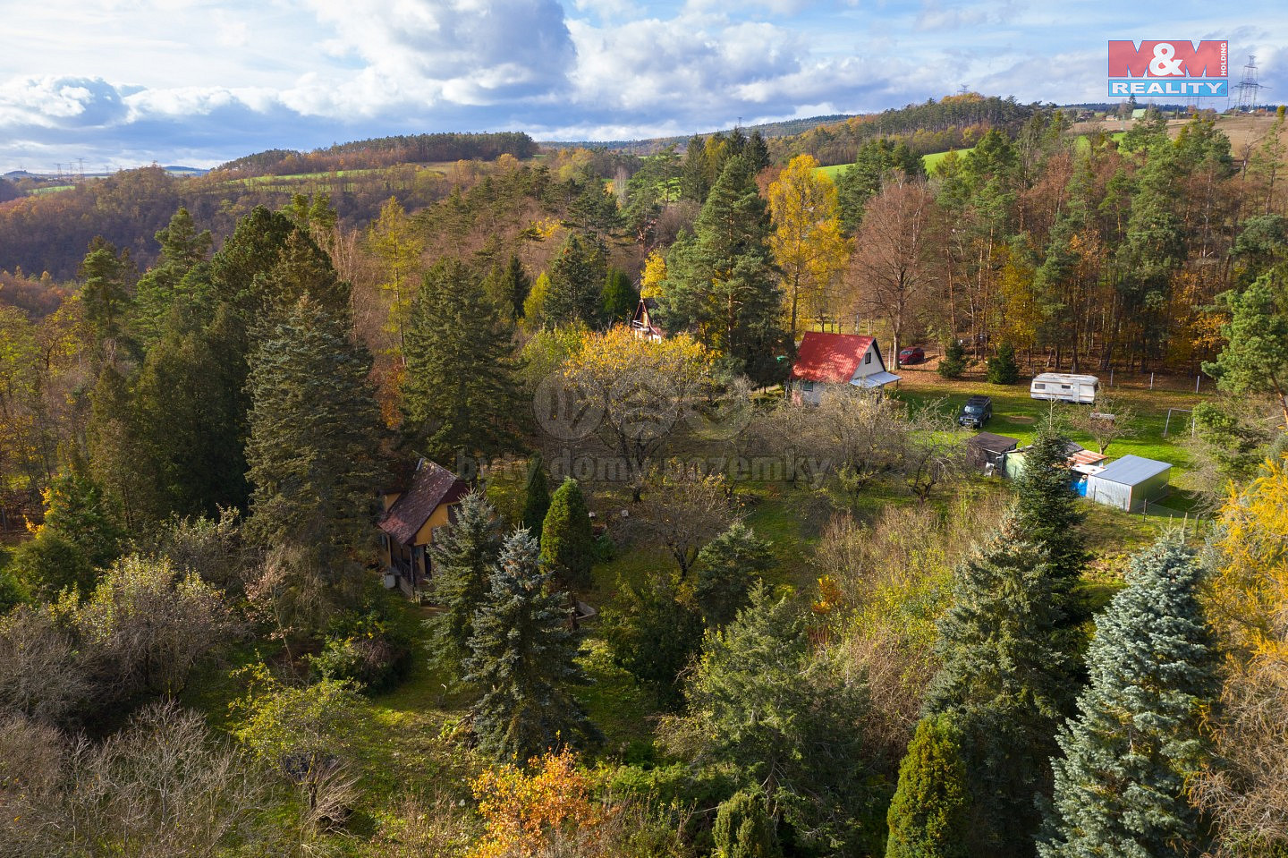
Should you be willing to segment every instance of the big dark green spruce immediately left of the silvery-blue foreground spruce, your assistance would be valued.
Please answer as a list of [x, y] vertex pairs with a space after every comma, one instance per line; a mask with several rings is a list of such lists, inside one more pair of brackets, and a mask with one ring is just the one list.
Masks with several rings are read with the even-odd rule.
[[957, 568], [939, 621], [942, 667], [923, 714], [952, 714], [962, 729], [972, 855], [1033, 852], [1034, 796], [1050, 791], [1055, 730], [1073, 693], [1075, 653], [1055, 590], [1045, 553], [1007, 517]]

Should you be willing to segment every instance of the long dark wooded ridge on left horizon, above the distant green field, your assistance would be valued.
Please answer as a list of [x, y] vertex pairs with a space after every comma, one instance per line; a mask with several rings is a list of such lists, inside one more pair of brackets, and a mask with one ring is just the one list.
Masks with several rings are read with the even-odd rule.
[[537, 143], [523, 131], [399, 134], [337, 143], [312, 152], [268, 149], [229, 161], [220, 165], [219, 169], [245, 175], [292, 175], [296, 173], [383, 167], [394, 164], [495, 161], [501, 155], [531, 158], [536, 153]]

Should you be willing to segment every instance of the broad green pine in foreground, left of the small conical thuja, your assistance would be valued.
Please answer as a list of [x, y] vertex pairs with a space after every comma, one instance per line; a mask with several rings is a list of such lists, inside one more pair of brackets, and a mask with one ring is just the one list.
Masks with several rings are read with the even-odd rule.
[[[860, 721], [860, 683], [814, 653], [806, 611], [757, 585], [748, 605], [707, 635], [685, 683], [688, 709], [663, 721], [666, 746], [697, 764], [764, 785], [770, 813], [808, 854], [871, 854], [880, 846]], [[884, 825], [880, 837], [884, 839]]]

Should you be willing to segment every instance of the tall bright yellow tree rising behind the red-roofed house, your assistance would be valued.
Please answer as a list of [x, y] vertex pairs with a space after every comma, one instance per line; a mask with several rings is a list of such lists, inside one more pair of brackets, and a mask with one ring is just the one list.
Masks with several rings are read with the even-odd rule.
[[769, 249], [783, 272], [783, 294], [792, 339], [801, 303], [820, 319], [832, 316], [832, 286], [849, 258], [850, 243], [841, 234], [836, 186], [811, 155], [799, 155], [769, 186], [769, 211], [774, 232]]

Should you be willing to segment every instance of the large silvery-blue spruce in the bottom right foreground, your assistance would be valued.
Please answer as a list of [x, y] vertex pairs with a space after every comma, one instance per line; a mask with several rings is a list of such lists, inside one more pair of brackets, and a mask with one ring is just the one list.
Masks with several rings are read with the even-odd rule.
[[1200, 578], [1194, 553], [1164, 537], [1096, 617], [1091, 685], [1052, 760], [1043, 858], [1163, 858], [1200, 843], [1186, 783], [1209, 756], [1202, 721], [1217, 694]]

